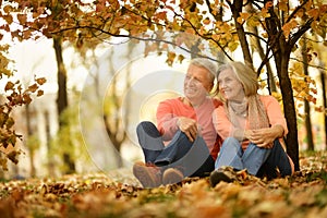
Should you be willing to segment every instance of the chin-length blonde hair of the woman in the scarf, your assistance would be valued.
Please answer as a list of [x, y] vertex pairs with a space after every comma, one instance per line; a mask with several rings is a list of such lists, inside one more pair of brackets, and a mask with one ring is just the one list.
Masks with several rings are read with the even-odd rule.
[[244, 88], [245, 96], [252, 96], [257, 94], [258, 83], [254, 70], [252, 70], [250, 66], [245, 65], [242, 62], [234, 61], [221, 65], [218, 69], [218, 76], [221, 71], [227, 69], [231, 69], [232, 72], [235, 74], [237, 78], [240, 81]]

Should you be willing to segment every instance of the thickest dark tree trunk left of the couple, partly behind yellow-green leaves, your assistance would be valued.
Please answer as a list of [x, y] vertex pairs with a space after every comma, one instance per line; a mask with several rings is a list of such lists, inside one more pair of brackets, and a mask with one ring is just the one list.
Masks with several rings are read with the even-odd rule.
[[[53, 48], [56, 51], [57, 66], [58, 66], [58, 98], [57, 98], [57, 108], [59, 117], [59, 129], [64, 125], [61, 114], [68, 107], [68, 94], [66, 94], [66, 72], [62, 58], [62, 45], [60, 37], [53, 37]], [[68, 166], [65, 173], [75, 172], [75, 164], [71, 158], [69, 153], [63, 154], [63, 161]]]

